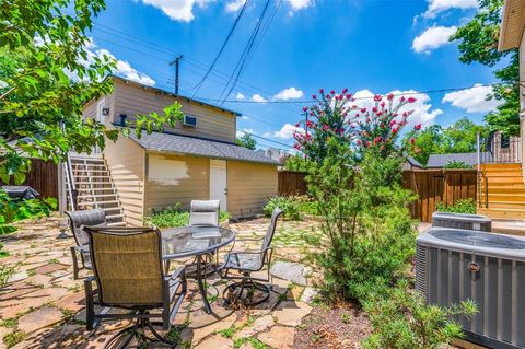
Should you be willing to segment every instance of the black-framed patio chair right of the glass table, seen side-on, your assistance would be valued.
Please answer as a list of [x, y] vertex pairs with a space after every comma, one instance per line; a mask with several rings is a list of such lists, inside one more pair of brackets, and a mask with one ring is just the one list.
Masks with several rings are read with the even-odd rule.
[[[259, 251], [242, 251], [231, 252], [224, 256], [224, 264], [220, 267], [220, 270], [224, 270], [221, 277], [226, 280], [240, 280], [231, 283], [224, 289], [223, 299], [225, 303], [231, 303], [233, 300], [241, 301], [244, 305], [257, 305], [266, 302], [270, 296], [271, 286], [261, 283], [270, 281], [270, 265], [273, 247], [271, 241], [277, 228], [277, 221], [284, 211], [276, 208], [271, 213], [270, 225], [265, 236], [259, 239], [242, 239], [237, 241], [261, 241]], [[254, 278], [252, 274], [261, 270], [267, 267], [267, 278]], [[235, 270], [241, 276], [229, 276], [231, 270]], [[261, 281], [261, 282], [259, 282]], [[260, 300], [253, 300], [254, 292], [258, 290], [265, 293], [265, 296]], [[246, 291], [246, 295], [243, 294]], [[230, 292], [231, 298], [226, 296], [226, 292]]]

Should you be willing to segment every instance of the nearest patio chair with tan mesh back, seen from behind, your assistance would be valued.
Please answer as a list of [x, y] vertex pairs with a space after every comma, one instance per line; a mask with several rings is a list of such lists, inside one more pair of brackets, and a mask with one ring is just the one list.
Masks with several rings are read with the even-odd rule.
[[[118, 344], [118, 348], [125, 348], [133, 338], [139, 348], [154, 341], [174, 347], [176, 342], [162, 336], [154, 326], [171, 328], [187, 284], [183, 267], [168, 277], [164, 275], [161, 232], [151, 228], [92, 226], [85, 231], [94, 274], [84, 280], [88, 330], [96, 328], [103, 319], [135, 319], [131, 326], [115, 334], [106, 347]], [[95, 304], [103, 310], [95, 312]], [[112, 313], [110, 309], [120, 312]], [[148, 336], [148, 329], [153, 337]]]

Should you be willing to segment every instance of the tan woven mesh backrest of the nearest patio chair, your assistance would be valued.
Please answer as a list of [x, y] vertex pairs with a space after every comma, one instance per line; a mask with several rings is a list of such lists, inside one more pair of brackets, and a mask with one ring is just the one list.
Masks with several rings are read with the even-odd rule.
[[162, 304], [161, 232], [151, 228], [86, 226], [100, 302], [109, 306]]

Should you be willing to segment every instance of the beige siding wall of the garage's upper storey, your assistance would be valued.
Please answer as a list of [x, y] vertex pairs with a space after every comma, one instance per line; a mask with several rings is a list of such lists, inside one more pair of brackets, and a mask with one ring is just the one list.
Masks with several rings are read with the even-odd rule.
[[[115, 107], [112, 109], [114, 110], [112, 114], [115, 123], [120, 121], [120, 114], [126, 114], [129, 120], [133, 120], [133, 116], [137, 114], [162, 113], [164, 107], [175, 102], [173, 96], [144, 90], [132, 83], [125, 84], [119, 80], [115, 80], [114, 94]], [[183, 113], [196, 116], [198, 125], [195, 128], [177, 125], [171, 131], [221, 141], [235, 141], [235, 115], [184, 100], [179, 102]]]

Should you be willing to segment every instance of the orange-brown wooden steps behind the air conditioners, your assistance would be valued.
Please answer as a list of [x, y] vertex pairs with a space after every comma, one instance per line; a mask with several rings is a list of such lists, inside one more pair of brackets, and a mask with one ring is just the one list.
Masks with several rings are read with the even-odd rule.
[[525, 184], [521, 163], [480, 165], [478, 213], [492, 219], [525, 219]]

